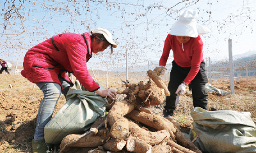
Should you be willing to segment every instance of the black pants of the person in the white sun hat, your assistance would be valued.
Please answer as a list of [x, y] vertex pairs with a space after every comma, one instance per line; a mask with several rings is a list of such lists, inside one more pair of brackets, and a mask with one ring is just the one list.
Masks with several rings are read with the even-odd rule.
[[[175, 101], [179, 85], [188, 76], [191, 67], [180, 67], [175, 61], [172, 62], [172, 70], [170, 73], [170, 82], [168, 84], [168, 90], [170, 91], [170, 96], [166, 96], [166, 105], [164, 106], [164, 111], [169, 115], [173, 115], [176, 108]], [[200, 70], [198, 71], [196, 77], [191, 81], [192, 87], [192, 97], [194, 107], [201, 107], [207, 110], [207, 98], [208, 94], [205, 92], [205, 84], [207, 84], [208, 78], [205, 73], [205, 62], [202, 61], [200, 65]]]

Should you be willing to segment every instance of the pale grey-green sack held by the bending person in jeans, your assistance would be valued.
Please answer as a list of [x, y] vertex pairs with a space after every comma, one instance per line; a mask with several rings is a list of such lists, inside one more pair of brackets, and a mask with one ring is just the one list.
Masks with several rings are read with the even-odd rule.
[[[65, 103], [44, 128], [46, 143], [58, 145], [71, 134], [80, 135], [90, 128], [95, 120], [104, 117], [106, 98], [95, 92], [89, 92], [78, 80], [76, 87], [70, 88]], [[104, 87], [100, 85], [100, 89]]]

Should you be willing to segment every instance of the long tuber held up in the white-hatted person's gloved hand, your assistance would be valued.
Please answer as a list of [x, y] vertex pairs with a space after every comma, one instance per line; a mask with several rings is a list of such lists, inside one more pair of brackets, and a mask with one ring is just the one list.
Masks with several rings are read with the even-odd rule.
[[147, 75], [155, 82], [157, 87], [164, 89], [165, 96], [170, 96], [170, 92], [169, 92], [168, 88], [166, 87], [163, 80], [157, 75], [157, 73], [155, 71], [152, 71], [149, 69], [147, 71]]

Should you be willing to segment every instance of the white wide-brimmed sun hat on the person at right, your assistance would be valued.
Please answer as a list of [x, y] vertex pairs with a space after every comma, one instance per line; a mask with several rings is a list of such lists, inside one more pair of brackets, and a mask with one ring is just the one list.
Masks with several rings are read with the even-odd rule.
[[180, 11], [180, 17], [172, 25], [169, 34], [196, 38], [198, 35], [211, 33], [211, 30], [207, 27], [196, 24], [197, 15], [197, 12], [194, 10]]

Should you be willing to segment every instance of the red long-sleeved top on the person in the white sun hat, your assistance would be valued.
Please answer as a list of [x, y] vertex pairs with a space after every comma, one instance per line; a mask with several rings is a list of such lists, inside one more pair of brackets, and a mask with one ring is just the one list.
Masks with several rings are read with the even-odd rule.
[[197, 75], [203, 61], [203, 41], [200, 36], [190, 38], [186, 43], [180, 43], [176, 36], [168, 34], [164, 41], [164, 50], [159, 61], [159, 66], [165, 66], [170, 50], [173, 51], [174, 61], [181, 67], [191, 67], [188, 76], [183, 82], [189, 84]]

